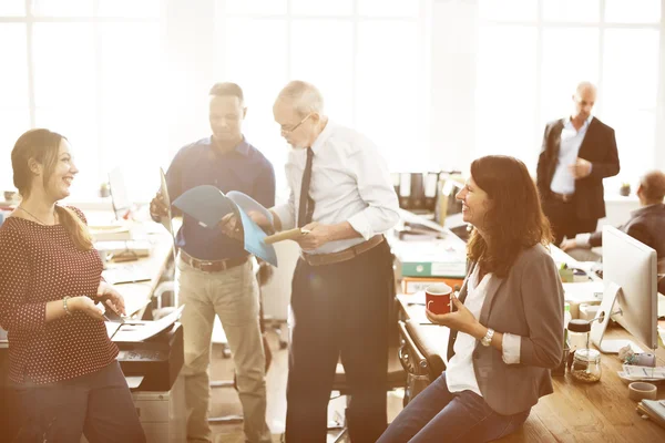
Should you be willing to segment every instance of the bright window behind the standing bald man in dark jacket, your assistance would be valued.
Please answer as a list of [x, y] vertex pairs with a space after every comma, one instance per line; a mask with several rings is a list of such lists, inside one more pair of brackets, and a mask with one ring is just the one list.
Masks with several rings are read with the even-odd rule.
[[567, 115], [575, 84], [589, 80], [598, 86], [594, 115], [616, 131], [622, 168], [608, 188], [636, 182], [656, 158], [661, 7], [479, 0], [477, 154], [514, 155], [534, 172], [545, 122]]

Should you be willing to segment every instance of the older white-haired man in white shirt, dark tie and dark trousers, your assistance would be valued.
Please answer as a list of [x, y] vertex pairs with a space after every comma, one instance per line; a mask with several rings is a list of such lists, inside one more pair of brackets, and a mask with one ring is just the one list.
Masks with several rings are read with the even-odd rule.
[[387, 425], [392, 256], [382, 235], [399, 219], [398, 198], [377, 146], [335, 124], [311, 84], [293, 81], [273, 107], [291, 145], [287, 203], [273, 208], [277, 230], [300, 227], [293, 279], [295, 319], [287, 390], [287, 442], [325, 442], [338, 359], [351, 389], [354, 443], [375, 442]]

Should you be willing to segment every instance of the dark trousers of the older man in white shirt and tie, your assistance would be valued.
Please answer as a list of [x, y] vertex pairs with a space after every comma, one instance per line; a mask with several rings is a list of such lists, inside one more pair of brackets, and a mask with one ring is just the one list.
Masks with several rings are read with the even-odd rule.
[[300, 259], [293, 280], [286, 441], [326, 441], [327, 408], [338, 359], [350, 387], [354, 443], [376, 442], [387, 426], [389, 312], [395, 296], [387, 241], [339, 264]]

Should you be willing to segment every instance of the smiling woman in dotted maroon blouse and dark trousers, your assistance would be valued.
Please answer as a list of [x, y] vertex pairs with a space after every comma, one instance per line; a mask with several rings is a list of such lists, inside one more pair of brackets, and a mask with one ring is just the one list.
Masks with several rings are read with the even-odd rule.
[[66, 138], [28, 131], [11, 153], [22, 196], [0, 227], [0, 324], [17, 391], [17, 442], [145, 442], [96, 301], [124, 313], [102, 280], [83, 214], [55, 203], [79, 169]]

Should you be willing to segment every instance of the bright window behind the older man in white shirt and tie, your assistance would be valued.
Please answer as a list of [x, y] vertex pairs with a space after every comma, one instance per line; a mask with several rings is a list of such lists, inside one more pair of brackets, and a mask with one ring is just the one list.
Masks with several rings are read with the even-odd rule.
[[217, 2], [216, 41], [224, 50], [216, 51], [215, 78], [245, 91], [244, 131], [275, 165], [278, 194], [285, 196], [283, 164], [289, 147], [272, 109], [289, 80], [315, 84], [330, 119], [370, 137], [392, 168], [427, 163], [423, 3]]

